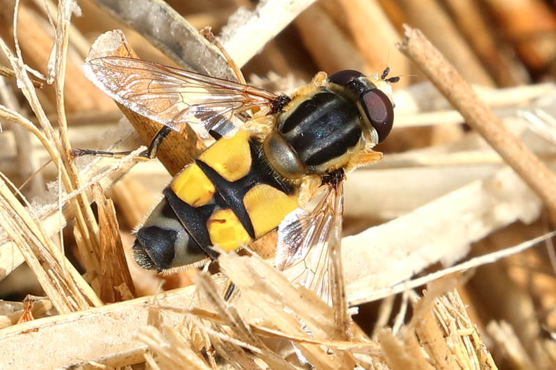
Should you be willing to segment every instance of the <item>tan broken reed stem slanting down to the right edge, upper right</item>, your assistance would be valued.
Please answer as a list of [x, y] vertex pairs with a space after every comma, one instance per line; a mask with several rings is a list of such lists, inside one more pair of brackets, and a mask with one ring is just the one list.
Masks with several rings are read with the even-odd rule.
[[556, 176], [518, 140], [475, 94], [442, 53], [416, 28], [404, 25], [398, 49], [413, 60], [430, 81], [459, 110], [466, 123], [480, 133], [525, 183], [556, 212]]

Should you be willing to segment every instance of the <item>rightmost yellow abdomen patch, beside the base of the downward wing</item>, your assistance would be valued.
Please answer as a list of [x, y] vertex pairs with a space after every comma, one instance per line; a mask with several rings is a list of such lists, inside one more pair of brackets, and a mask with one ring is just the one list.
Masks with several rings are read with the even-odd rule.
[[250, 189], [243, 198], [243, 204], [257, 238], [276, 228], [298, 206], [297, 196], [288, 195], [266, 184]]

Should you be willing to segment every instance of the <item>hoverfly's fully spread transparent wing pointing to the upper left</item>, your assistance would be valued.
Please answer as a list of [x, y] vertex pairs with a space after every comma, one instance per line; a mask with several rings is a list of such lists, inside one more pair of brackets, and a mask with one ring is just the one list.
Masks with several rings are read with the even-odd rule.
[[250, 85], [133, 58], [96, 58], [85, 75], [115, 101], [179, 131], [183, 124], [229, 135], [229, 123], [247, 110], [269, 110], [277, 96]]

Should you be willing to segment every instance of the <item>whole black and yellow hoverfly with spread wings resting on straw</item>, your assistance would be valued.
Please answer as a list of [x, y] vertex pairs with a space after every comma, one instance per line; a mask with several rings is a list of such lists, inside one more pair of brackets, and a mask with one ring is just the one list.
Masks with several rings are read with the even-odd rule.
[[[232, 62], [233, 63], [233, 62]], [[132, 58], [97, 58], [85, 74], [127, 108], [170, 130], [192, 124], [216, 142], [175, 176], [135, 233], [133, 255], [145, 269], [200, 267], [278, 228], [275, 264], [297, 267], [298, 282], [325, 294], [326, 245], [343, 213], [343, 180], [377, 162], [373, 147], [393, 124], [387, 68], [364, 76], [317, 74], [293, 94]], [[79, 153], [78, 153], [79, 154]], [[307, 212], [316, 192], [324, 196]]]

